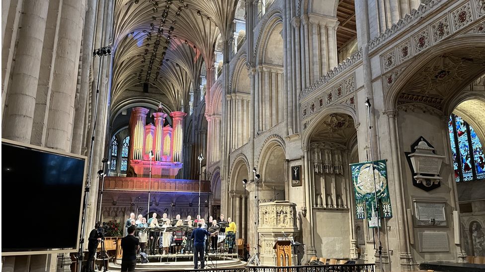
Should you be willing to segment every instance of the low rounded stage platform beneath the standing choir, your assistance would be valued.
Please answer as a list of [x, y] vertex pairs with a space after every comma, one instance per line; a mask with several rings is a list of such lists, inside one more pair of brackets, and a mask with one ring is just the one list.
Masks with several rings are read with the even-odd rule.
[[[147, 264], [138, 263], [136, 271], [192, 270], [194, 268], [193, 254], [149, 255]], [[207, 257], [206, 257], [207, 258]], [[238, 254], [210, 253], [206, 259], [206, 268], [231, 269], [243, 268], [246, 262], [238, 259]], [[109, 271], [120, 271], [121, 260], [108, 264]]]

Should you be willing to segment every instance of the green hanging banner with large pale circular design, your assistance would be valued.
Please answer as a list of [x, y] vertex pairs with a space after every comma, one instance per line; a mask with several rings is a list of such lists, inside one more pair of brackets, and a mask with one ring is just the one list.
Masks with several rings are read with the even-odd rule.
[[382, 204], [381, 218], [392, 218], [386, 160], [374, 161], [374, 173], [372, 172], [372, 162], [352, 163], [350, 172], [354, 184], [357, 218], [365, 219], [367, 217], [370, 227], [377, 225], [375, 189], [377, 189], [377, 198]]

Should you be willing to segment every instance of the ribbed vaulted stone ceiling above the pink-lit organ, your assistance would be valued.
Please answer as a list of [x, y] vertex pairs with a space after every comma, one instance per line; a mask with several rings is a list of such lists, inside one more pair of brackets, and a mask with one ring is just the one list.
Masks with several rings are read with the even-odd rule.
[[[232, 36], [238, 0], [117, 0], [114, 11], [113, 103], [125, 90], [167, 97], [180, 110], [191, 84], [198, 86], [202, 66], [214, 63], [219, 34]], [[156, 91], [155, 91], [156, 90]]]

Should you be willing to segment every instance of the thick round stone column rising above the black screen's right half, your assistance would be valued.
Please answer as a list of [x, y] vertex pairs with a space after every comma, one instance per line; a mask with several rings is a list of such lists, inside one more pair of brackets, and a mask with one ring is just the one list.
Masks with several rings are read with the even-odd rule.
[[46, 147], [63, 151], [71, 150], [84, 11], [84, 1], [64, 0], [62, 3]]

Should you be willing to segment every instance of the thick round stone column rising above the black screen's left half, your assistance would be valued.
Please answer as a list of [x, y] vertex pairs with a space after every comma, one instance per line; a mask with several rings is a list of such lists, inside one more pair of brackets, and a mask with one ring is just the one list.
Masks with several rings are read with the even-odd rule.
[[[25, 0], [2, 137], [30, 143], [49, 0]], [[80, 35], [81, 36], [81, 35]]]

